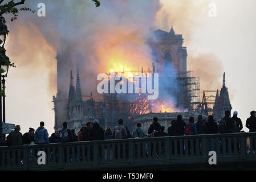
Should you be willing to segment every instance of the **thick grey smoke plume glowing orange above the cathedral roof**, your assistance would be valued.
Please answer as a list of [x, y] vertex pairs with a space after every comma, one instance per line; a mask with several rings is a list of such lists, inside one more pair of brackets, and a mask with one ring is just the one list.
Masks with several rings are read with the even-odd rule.
[[[40, 2], [29, 0], [26, 6], [37, 10]], [[68, 90], [70, 69], [74, 73], [79, 69], [82, 92], [90, 94], [96, 90], [99, 73], [128, 67], [131, 63], [136, 63], [131, 69], [150, 67], [151, 50], [145, 39], [156, 22], [159, 0], [101, 1], [99, 8], [91, 0], [46, 0], [44, 3], [46, 17], [22, 14], [18, 22], [32, 22], [56, 49], [56, 55], [66, 60], [68, 70], [63, 73], [63, 92]]]

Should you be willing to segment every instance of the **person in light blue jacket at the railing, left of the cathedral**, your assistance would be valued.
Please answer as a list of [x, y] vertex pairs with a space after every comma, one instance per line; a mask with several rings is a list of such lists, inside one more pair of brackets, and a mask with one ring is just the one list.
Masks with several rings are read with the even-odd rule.
[[40, 122], [40, 127], [35, 131], [34, 140], [36, 144], [49, 143], [48, 131], [44, 128], [44, 122]]

